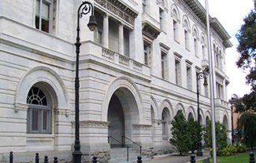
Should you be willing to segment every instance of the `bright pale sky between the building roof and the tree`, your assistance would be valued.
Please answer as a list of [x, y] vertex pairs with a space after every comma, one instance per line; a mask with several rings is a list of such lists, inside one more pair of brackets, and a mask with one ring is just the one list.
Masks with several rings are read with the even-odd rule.
[[[205, 0], [198, 0], [202, 6], [205, 5]], [[244, 94], [250, 93], [250, 86], [246, 84], [246, 75], [241, 69], [236, 66], [236, 60], [239, 58], [239, 53], [236, 52], [238, 42], [236, 33], [243, 24], [243, 18], [254, 9], [253, 0], [208, 0], [209, 13], [211, 17], [216, 17], [232, 37], [232, 48], [225, 51], [225, 60], [227, 74], [229, 77], [228, 85], [228, 100], [232, 94], [243, 97]]]

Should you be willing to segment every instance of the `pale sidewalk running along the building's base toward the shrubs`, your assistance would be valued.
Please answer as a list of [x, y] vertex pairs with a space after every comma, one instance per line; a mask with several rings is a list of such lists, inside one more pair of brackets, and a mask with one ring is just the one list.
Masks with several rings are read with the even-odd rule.
[[[165, 155], [160, 155], [160, 156], [154, 156], [154, 159], [151, 159], [151, 161], [143, 161], [143, 163], [150, 162], [150, 163], [190, 163], [191, 160], [191, 153], [188, 154], [180, 154], [178, 153], [173, 153], [173, 154], [165, 154]], [[205, 158], [210, 157], [210, 151], [209, 150], [203, 150], [202, 151], [202, 156], [198, 157], [195, 155], [195, 160], [199, 161]]]

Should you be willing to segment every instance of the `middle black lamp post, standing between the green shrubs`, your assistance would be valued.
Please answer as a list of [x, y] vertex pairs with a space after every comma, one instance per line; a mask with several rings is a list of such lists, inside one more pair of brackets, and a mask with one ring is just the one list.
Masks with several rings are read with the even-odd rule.
[[198, 152], [197, 152], [197, 156], [202, 156], [202, 142], [201, 142], [201, 129], [200, 129], [200, 110], [199, 110], [199, 85], [198, 82], [200, 79], [204, 78], [204, 82], [203, 85], [206, 87], [207, 84], [207, 77], [206, 77], [206, 71], [207, 71], [207, 67], [204, 71], [200, 72], [197, 74], [197, 98], [198, 98]]

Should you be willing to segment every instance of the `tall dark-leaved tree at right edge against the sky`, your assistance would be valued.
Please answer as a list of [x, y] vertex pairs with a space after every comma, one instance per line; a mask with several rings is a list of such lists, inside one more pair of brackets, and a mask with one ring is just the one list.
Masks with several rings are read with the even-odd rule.
[[244, 24], [236, 34], [239, 42], [237, 51], [239, 59], [236, 61], [237, 67], [247, 71], [246, 82], [251, 86], [250, 94], [240, 98], [236, 106], [236, 112], [243, 113], [246, 110], [256, 112], [256, 1], [254, 9], [243, 19]]

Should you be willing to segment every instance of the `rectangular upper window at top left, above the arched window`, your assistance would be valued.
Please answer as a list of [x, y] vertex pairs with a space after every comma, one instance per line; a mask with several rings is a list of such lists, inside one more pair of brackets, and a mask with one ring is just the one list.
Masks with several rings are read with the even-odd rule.
[[36, 0], [35, 2], [35, 27], [41, 31], [50, 33], [52, 25], [52, 2], [51, 0]]

